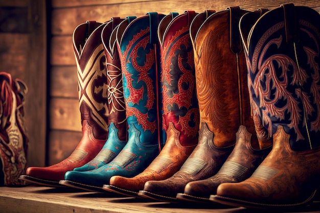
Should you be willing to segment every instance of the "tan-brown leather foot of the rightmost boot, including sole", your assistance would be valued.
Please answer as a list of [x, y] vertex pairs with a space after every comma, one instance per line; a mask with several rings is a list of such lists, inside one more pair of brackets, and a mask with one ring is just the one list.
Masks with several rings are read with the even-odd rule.
[[320, 148], [292, 151], [282, 126], [273, 149], [253, 175], [240, 183], [223, 183], [210, 200], [250, 208], [294, 208], [309, 204], [320, 177]]

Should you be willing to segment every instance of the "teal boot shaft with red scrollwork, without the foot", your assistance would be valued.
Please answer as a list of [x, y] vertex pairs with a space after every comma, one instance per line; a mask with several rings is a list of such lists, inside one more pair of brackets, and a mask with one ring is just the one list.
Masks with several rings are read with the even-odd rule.
[[165, 138], [161, 121], [161, 66], [156, 34], [163, 17], [157, 13], [128, 17], [117, 32], [128, 126], [132, 131], [140, 132], [140, 143], [146, 146], [161, 146]]

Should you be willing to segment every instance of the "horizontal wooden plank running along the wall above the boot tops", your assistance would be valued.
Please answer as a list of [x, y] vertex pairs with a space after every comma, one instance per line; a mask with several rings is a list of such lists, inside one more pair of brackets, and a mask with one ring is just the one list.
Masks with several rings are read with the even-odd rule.
[[[65, 1], [67, 2], [67, 1]], [[257, 10], [258, 8], [274, 9], [281, 4], [294, 3], [296, 6], [319, 7], [319, 1], [304, 0], [224, 0], [224, 1], [148, 1], [148, 2], [132, 2], [112, 5], [88, 5], [85, 7], [73, 8], [57, 8], [52, 11], [52, 33], [54, 35], [72, 34], [73, 30], [82, 22], [87, 20], [96, 20], [104, 22], [111, 17], [120, 16], [143, 16], [148, 12], [158, 12], [168, 14], [170, 12], [183, 13], [185, 10], [195, 10], [203, 12], [207, 9], [215, 9], [216, 11], [225, 10], [230, 6], [240, 6], [246, 10]]]

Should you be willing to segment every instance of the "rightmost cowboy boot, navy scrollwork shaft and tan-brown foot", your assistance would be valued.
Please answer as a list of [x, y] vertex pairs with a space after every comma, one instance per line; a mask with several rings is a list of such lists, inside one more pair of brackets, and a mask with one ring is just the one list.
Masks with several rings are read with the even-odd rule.
[[243, 36], [255, 125], [273, 137], [273, 149], [251, 177], [219, 185], [212, 201], [277, 209], [312, 201], [320, 178], [319, 19], [311, 8], [282, 5]]

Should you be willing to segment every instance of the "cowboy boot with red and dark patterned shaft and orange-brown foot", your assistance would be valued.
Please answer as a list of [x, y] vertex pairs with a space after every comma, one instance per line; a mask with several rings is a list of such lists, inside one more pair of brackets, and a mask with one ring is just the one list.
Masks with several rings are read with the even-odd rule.
[[103, 186], [105, 190], [138, 197], [146, 181], [164, 180], [177, 172], [198, 143], [199, 109], [189, 35], [189, 26], [196, 14], [194, 11], [178, 16], [169, 14], [158, 27], [165, 146], [145, 171], [133, 178], [113, 176], [110, 184]]

